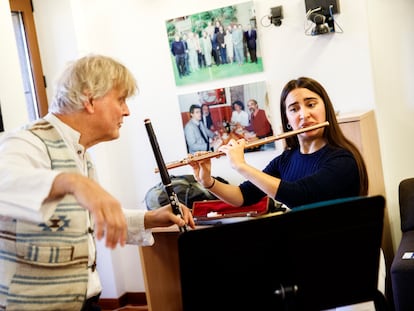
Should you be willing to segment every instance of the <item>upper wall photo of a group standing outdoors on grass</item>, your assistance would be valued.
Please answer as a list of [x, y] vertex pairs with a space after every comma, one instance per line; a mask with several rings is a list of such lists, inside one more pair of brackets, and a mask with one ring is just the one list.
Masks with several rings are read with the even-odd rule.
[[253, 1], [166, 21], [177, 86], [263, 71]]

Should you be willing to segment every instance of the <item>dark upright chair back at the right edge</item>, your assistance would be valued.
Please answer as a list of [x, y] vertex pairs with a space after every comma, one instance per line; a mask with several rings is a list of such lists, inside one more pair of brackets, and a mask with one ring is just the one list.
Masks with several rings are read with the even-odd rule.
[[407, 178], [399, 185], [401, 231], [414, 230], [414, 178]]

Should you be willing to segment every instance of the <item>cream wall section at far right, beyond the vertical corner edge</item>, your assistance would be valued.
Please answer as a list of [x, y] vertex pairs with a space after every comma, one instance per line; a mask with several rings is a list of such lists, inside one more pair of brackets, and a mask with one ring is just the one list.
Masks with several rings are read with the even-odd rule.
[[398, 184], [414, 176], [414, 2], [369, 0], [367, 7], [386, 199], [396, 247], [401, 239]]

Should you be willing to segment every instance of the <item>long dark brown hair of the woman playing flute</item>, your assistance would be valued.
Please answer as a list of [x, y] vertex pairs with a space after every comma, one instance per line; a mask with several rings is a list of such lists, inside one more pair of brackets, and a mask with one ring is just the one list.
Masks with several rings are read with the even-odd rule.
[[[326, 121], [329, 122], [329, 126], [325, 127], [323, 136], [328, 142], [328, 144], [344, 148], [352, 153], [352, 155], [355, 158], [355, 161], [357, 162], [358, 166], [358, 173], [359, 173], [359, 180], [360, 180], [360, 186], [359, 186], [359, 194], [360, 195], [367, 195], [368, 194], [368, 173], [365, 166], [364, 159], [362, 158], [361, 153], [359, 152], [358, 148], [345, 137], [343, 134], [341, 128], [339, 127], [338, 121], [336, 119], [335, 109], [332, 105], [331, 99], [328, 96], [328, 93], [323, 88], [323, 86], [307, 77], [300, 77], [296, 80], [290, 80], [285, 87], [282, 90], [282, 93], [280, 95], [280, 115], [282, 119], [282, 126], [284, 132], [291, 131], [292, 129], [289, 129], [288, 126], [288, 120], [286, 116], [286, 97], [289, 95], [291, 91], [298, 88], [305, 88], [308, 89], [316, 94], [318, 94], [325, 105], [325, 113], [326, 113]], [[286, 147], [287, 148], [297, 148], [299, 147], [299, 140], [298, 137], [292, 136], [286, 138]]]

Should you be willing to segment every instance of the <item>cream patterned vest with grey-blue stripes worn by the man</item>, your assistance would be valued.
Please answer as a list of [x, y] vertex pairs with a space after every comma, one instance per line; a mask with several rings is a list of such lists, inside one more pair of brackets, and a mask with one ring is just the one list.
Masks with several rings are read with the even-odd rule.
[[[56, 129], [28, 128], [45, 144], [51, 168], [80, 173]], [[88, 161], [88, 174], [93, 167]], [[0, 310], [80, 310], [88, 282], [88, 211], [66, 195], [46, 223], [0, 219]]]

